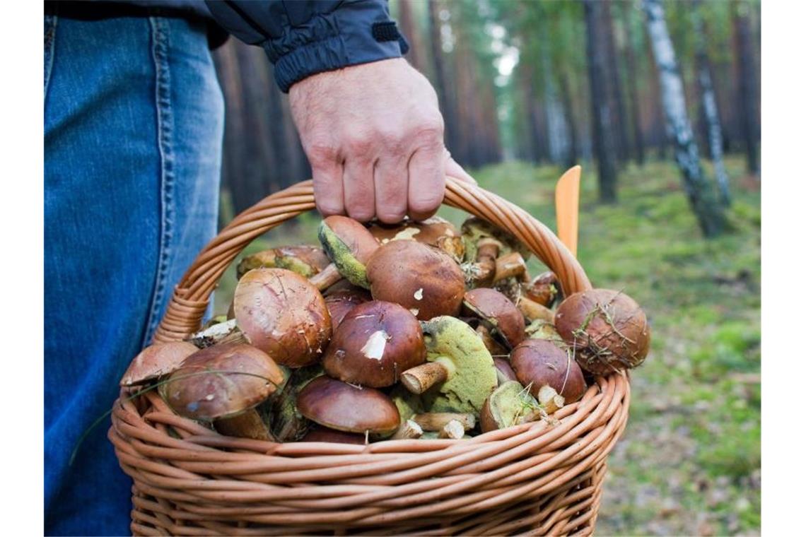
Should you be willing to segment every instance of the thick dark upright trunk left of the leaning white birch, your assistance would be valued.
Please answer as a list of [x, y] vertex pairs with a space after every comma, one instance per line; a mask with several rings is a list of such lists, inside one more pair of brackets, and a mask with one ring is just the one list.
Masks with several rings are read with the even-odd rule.
[[602, 4], [597, 0], [584, 0], [586, 51], [588, 56], [588, 82], [591, 87], [591, 119], [593, 151], [599, 171], [599, 200], [616, 201], [616, 163], [613, 151], [612, 111], [605, 85], [605, 51], [600, 46]]

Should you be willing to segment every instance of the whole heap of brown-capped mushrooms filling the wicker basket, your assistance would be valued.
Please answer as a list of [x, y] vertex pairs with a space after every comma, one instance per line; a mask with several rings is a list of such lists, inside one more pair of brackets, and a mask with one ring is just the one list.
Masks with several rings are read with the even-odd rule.
[[620, 291], [567, 296], [529, 250], [476, 217], [364, 225], [325, 218], [319, 246], [237, 266], [230, 311], [152, 345], [121, 386], [156, 387], [226, 436], [367, 444], [459, 440], [555, 423], [594, 375], [638, 366], [646, 316]]

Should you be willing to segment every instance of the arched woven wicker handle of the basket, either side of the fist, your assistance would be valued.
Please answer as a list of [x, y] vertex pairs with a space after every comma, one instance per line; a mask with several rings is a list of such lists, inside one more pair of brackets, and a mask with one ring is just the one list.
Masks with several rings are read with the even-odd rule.
[[[591, 288], [588, 276], [566, 246], [546, 225], [517, 205], [450, 176], [446, 178], [442, 203], [512, 233], [555, 272], [566, 295]], [[196, 332], [202, 324], [210, 294], [235, 257], [269, 229], [314, 208], [313, 181], [306, 180], [265, 197], [235, 217], [185, 272], [173, 291], [154, 341], [177, 341]]]

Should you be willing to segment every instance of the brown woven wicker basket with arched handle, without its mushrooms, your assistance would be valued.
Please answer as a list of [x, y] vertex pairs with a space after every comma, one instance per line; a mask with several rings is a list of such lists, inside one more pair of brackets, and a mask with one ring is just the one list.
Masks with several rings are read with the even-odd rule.
[[[509, 230], [567, 294], [590, 287], [550, 229], [522, 209], [450, 177], [445, 203]], [[307, 181], [236, 217], [185, 274], [156, 341], [196, 331], [239, 252], [310, 209]], [[123, 390], [109, 438], [134, 480], [135, 535], [590, 535], [605, 460], [627, 421], [628, 381], [624, 374], [596, 379], [554, 425], [366, 446], [220, 436], [173, 414], [153, 392], [127, 400]]]

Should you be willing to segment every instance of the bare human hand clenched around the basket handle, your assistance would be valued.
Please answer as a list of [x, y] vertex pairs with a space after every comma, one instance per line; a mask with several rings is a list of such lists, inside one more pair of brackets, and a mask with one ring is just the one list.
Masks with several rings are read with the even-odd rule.
[[323, 216], [424, 220], [446, 172], [475, 183], [445, 149], [434, 88], [402, 58], [310, 76], [289, 97]]

